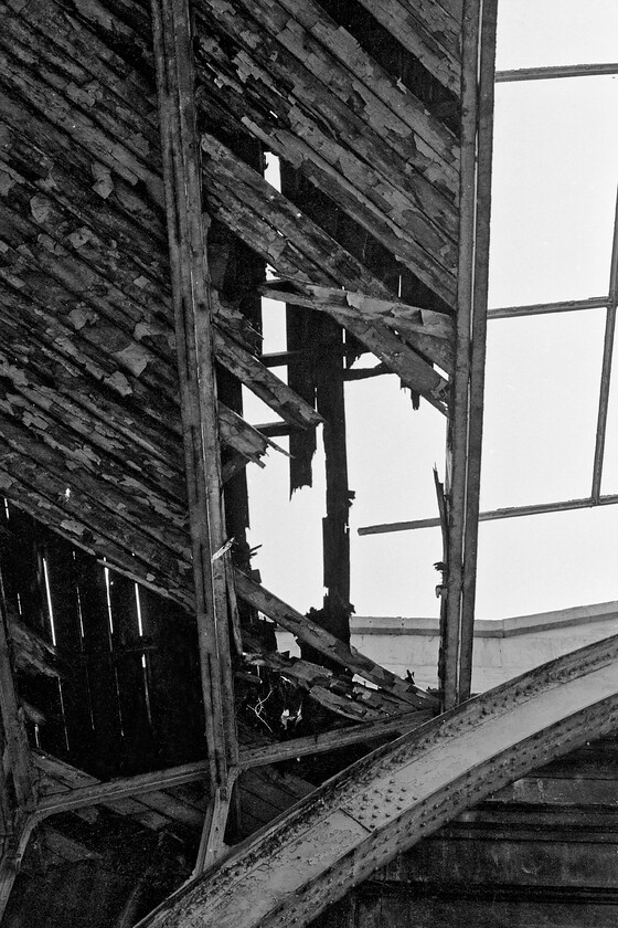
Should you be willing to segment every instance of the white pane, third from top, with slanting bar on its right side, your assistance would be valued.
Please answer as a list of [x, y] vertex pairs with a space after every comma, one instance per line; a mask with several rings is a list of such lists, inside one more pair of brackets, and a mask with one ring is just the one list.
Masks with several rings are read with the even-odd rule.
[[603, 309], [490, 323], [481, 508], [589, 495], [604, 327]]

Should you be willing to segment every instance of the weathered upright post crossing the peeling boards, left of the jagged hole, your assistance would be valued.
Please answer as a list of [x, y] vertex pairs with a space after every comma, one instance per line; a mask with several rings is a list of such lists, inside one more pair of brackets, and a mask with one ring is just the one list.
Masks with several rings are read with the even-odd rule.
[[236, 762], [211, 284], [188, 0], [152, 0], [154, 61], [212, 795]]

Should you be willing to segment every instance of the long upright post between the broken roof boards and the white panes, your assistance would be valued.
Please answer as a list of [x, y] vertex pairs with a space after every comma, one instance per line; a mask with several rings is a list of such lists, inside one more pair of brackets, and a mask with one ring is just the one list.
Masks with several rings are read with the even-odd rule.
[[[491, 205], [496, 0], [464, 3], [457, 344], [450, 403], [444, 707], [470, 695]], [[479, 55], [480, 53], [480, 55]]]

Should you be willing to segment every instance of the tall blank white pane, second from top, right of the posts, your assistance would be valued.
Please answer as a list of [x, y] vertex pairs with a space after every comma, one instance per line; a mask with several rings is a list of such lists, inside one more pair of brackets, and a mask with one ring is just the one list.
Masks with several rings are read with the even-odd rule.
[[497, 86], [490, 306], [607, 293], [617, 113], [618, 78]]

